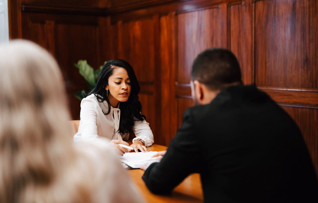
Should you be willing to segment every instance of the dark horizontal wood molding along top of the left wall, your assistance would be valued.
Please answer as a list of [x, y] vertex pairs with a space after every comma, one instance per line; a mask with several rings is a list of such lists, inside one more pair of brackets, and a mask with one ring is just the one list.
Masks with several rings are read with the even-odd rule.
[[82, 6], [64, 6], [52, 4], [35, 4], [22, 3], [22, 12], [37, 12], [37, 13], [55, 13], [55, 14], [78, 14], [78, 15], [92, 15], [92, 16], [107, 16], [106, 8], [91, 8]]

